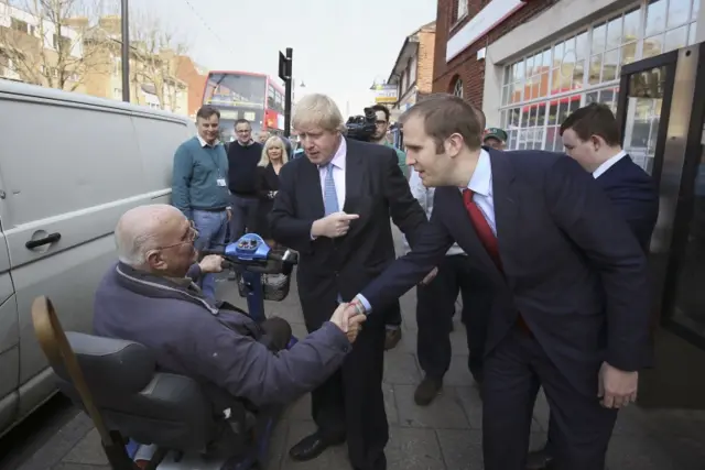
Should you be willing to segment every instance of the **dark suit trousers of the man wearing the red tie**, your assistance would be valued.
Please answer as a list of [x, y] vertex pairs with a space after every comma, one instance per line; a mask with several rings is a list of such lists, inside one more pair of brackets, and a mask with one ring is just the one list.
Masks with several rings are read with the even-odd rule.
[[540, 386], [551, 408], [555, 469], [605, 469], [617, 411], [599, 404], [597, 390], [594, 394], [576, 390], [533, 337], [514, 328], [485, 358], [484, 372], [485, 470], [525, 470]]

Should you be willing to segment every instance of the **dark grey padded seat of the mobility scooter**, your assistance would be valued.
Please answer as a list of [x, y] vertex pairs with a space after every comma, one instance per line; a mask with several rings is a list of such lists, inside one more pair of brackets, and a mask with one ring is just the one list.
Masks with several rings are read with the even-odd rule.
[[[199, 384], [156, 371], [153, 352], [133, 341], [66, 332], [86, 385], [106, 425], [122, 436], [180, 451], [205, 452], [221, 422]], [[63, 365], [55, 365], [59, 390], [82, 404]]]

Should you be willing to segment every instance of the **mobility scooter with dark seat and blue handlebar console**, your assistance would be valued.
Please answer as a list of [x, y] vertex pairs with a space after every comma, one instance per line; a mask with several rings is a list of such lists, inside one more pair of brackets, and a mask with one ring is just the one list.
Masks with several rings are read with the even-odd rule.
[[[297, 253], [275, 252], [254, 233], [202, 254], [220, 254], [225, 263], [242, 271], [240, 295], [247, 297], [249, 315], [257, 321], [265, 319], [264, 298], [286, 296], [297, 263]], [[262, 276], [272, 274], [285, 276], [285, 282], [267, 291]], [[265, 468], [281, 409], [253, 415], [241, 403], [229, 409], [228, 417], [214, 416], [200, 385], [158, 371], [153, 352], [143, 345], [64, 332], [46, 297], [34, 300], [32, 318], [58, 389], [91, 417], [115, 470]], [[292, 338], [289, 347], [293, 343]]]

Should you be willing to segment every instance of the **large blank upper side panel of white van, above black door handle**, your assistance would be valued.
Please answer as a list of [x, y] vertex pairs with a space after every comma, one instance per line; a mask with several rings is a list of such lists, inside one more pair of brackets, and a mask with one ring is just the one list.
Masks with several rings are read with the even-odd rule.
[[0, 107], [6, 229], [143, 193], [128, 114], [14, 100]]

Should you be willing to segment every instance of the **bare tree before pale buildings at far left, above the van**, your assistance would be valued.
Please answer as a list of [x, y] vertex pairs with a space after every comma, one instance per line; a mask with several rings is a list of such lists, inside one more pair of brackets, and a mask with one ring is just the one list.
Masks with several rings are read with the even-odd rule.
[[84, 39], [98, 28], [102, 0], [11, 0], [0, 26], [1, 55], [23, 81], [76, 90], [97, 66], [100, 47]]

